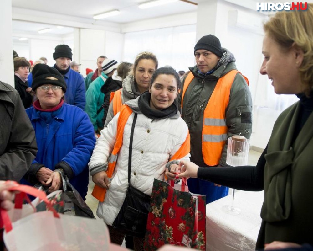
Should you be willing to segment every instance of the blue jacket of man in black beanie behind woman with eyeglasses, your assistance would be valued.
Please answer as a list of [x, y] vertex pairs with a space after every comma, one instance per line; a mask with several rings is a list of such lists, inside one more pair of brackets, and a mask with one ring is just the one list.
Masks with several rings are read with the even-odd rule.
[[86, 104], [84, 78], [72, 69], [69, 69], [63, 77], [67, 86], [64, 101], [67, 104], [73, 104], [84, 110]]

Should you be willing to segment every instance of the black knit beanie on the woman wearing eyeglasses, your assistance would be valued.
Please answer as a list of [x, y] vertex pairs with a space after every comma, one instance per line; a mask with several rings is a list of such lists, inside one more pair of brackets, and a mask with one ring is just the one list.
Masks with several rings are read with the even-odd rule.
[[64, 93], [66, 92], [66, 82], [64, 77], [57, 69], [46, 64], [36, 64], [33, 68], [32, 89], [35, 91], [39, 86], [52, 84], [61, 86]]

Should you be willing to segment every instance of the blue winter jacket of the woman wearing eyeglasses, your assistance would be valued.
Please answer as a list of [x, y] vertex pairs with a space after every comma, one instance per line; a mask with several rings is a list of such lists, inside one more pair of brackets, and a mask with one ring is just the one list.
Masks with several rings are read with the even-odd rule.
[[88, 163], [95, 147], [95, 132], [88, 115], [74, 105], [64, 103], [50, 124], [42, 120], [34, 107], [26, 109], [36, 133], [38, 152], [33, 163], [51, 170], [60, 161], [73, 171], [70, 183], [85, 200], [88, 190]]

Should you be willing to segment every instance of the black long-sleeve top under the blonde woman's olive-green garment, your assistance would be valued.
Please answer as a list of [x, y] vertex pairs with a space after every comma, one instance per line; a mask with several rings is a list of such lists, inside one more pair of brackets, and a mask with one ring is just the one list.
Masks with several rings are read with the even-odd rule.
[[[303, 93], [297, 94], [297, 97], [300, 99], [301, 106], [293, 141], [313, 111], [313, 91], [310, 98], [307, 98]], [[264, 167], [266, 163], [264, 156], [266, 153], [267, 146], [256, 166], [200, 167], [198, 168], [198, 178], [239, 190], [264, 190]]]

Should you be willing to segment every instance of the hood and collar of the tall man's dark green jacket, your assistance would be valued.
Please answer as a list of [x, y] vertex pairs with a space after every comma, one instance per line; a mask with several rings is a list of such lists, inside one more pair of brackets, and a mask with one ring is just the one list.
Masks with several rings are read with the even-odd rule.
[[218, 79], [224, 76], [227, 72], [230, 72], [231, 70], [237, 70], [237, 67], [235, 64], [236, 59], [233, 53], [228, 51], [226, 48], [222, 48], [222, 49], [223, 49], [223, 56], [218, 61], [218, 64], [214, 68], [215, 69], [214, 72], [212, 72], [211, 74], [206, 76], [204, 74], [199, 73], [198, 72], [199, 69], [197, 65], [193, 67], [189, 67], [189, 70], [192, 72], [192, 74], [195, 77], [200, 77], [200, 78], [204, 78], [208, 80]]

